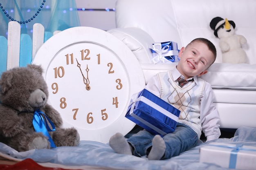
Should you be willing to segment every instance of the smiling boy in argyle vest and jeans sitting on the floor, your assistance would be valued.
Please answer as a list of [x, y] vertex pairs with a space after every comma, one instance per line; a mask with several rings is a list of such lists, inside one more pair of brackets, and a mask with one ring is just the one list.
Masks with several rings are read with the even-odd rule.
[[202, 131], [207, 141], [220, 137], [220, 118], [213, 105], [211, 85], [199, 78], [216, 60], [215, 46], [205, 38], [197, 38], [180, 49], [179, 57], [176, 68], [158, 73], [146, 85], [148, 91], [181, 111], [175, 131], [160, 137], [141, 130], [128, 139], [117, 133], [109, 142], [115, 152], [146, 155], [149, 160], [169, 159], [195, 146]]

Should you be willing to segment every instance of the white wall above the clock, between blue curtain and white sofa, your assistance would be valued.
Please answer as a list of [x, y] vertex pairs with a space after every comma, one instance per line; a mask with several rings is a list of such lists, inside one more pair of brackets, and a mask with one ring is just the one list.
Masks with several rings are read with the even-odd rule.
[[[78, 9], [113, 9], [116, 0], [76, 0]], [[78, 11], [81, 26], [109, 30], [116, 27], [115, 11]]]

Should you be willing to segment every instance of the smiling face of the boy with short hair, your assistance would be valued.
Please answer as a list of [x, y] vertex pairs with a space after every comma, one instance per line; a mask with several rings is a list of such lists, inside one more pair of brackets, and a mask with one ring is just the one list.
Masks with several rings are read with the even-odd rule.
[[214, 60], [213, 53], [202, 42], [193, 42], [186, 48], [182, 47], [179, 57], [180, 61], [177, 64], [177, 70], [180, 71], [185, 79], [207, 73], [206, 69]]

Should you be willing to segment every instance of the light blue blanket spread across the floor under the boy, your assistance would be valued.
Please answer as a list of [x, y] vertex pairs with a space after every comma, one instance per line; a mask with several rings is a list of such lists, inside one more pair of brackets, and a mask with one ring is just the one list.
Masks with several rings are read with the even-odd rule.
[[58, 163], [65, 166], [92, 166], [102, 169], [119, 170], [227, 170], [215, 164], [199, 163], [200, 147], [211, 142], [227, 144], [244, 144], [256, 147], [256, 128], [241, 127], [234, 137], [220, 138], [203, 143], [183, 152], [177, 157], [167, 160], [148, 161], [146, 157], [135, 157], [115, 153], [108, 144], [96, 141], [80, 141], [77, 147], [57, 147], [53, 149], [29, 150], [17, 152], [9, 146], [0, 143], [0, 152], [13, 158], [31, 158], [38, 163]]

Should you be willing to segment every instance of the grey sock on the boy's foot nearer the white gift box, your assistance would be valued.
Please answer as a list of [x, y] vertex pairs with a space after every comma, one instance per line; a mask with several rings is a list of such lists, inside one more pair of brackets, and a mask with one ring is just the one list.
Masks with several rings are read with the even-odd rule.
[[152, 140], [152, 148], [148, 154], [148, 160], [160, 160], [164, 156], [166, 145], [160, 135], [155, 135]]

